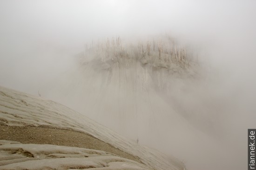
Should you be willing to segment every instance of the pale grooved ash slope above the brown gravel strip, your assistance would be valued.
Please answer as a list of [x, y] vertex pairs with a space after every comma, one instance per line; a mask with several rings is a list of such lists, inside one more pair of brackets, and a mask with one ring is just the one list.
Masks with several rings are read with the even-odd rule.
[[[141, 162], [144, 163], [148, 169], [184, 169], [183, 163], [178, 161], [176, 158], [167, 157], [157, 150], [136, 144], [135, 141], [122, 137], [118, 133], [109, 130], [105, 126], [96, 123], [95, 121], [67, 108], [64, 105], [60, 105], [51, 100], [28, 95], [26, 93], [13, 91], [4, 87], [0, 87], [0, 124], [17, 126], [46, 126], [81, 131], [99, 138], [102, 141], [119, 148], [120, 150], [139, 157]], [[8, 148], [9, 145], [7, 144], [1, 147]], [[13, 145], [13, 147], [15, 148], [17, 145]], [[20, 147], [34, 148], [33, 145], [20, 145]], [[38, 147], [40, 150], [45, 146]], [[66, 149], [70, 150], [70, 148]], [[33, 152], [33, 150], [31, 152]], [[106, 154], [103, 152], [101, 153], [103, 155]], [[109, 157], [109, 159], [114, 158]], [[125, 161], [130, 163], [128, 160]], [[105, 160], [105, 162], [107, 161]], [[120, 166], [116, 163], [113, 163], [112, 165], [115, 167]]]

